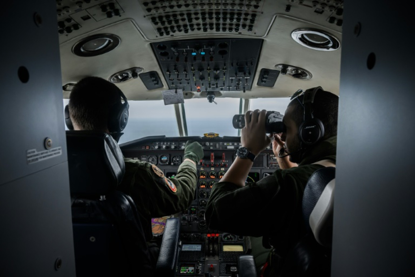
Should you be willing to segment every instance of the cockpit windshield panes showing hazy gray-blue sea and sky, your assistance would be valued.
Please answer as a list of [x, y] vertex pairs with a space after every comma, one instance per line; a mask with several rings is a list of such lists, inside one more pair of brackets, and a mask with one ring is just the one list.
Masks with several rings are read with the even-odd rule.
[[[209, 103], [205, 98], [185, 100], [188, 136], [203, 137], [208, 132], [217, 133], [221, 137], [238, 136], [238, 130], [232, 126], [232, 117], [239, 114], [240, 98], [217, 98], [215, 101], [217, 104]], [[63, 108], [68, 102], [68, 99], [63, 99]], [[162, 100], [128, 103], [128, 124], [120, 144], [154, 135], [179, 136], [173, 105], [164, 105]], [[274, 110], [284, 114], [288, 103], [290, 98], [255, 98], [250, 100], [249, 110]]]

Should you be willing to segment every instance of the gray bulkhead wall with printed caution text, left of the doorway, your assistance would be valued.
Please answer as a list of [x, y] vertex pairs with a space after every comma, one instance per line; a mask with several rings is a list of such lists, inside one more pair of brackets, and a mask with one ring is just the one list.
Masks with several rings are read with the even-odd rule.
[[6, 1], [0, 25], [0, 276], [75, 276], [56, 3]]

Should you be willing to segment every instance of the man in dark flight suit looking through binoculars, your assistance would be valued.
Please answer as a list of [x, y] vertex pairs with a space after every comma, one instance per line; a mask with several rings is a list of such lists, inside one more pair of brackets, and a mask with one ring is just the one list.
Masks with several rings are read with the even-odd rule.
[[[283, 117], [286, 132], [282, 133], [281, 142], [285, 142], [285, 147], [278, 147], [278, 157], [289, 157], [290, 163], [286, 169], [277, 169], [256, 183], [245, 184], [255, 157], [269, 146], [273, 137], [266, 135], [266, 110], [248, 111], [237, 158], [213, 185], [205, 213], [209, 228], [262, 236], [264, 247], [272, 247], [263, 276], [279, 276], [288, 251], [306, 233], [301, 209], [303, 191], [311, 174], [324, 167], [318, 162], [336, 162], [337, 110], [338, 96], [321, 87], [294, 95]], [[273, 144], [274, 152], [277, 144], [278, 141]]]

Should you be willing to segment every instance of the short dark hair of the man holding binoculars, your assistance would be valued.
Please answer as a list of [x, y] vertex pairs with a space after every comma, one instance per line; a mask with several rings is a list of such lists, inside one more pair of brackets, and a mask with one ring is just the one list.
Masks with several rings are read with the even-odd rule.
[[[288, 106], [294, 105], [293, 120], [300, 126], [304, 120], [303, 96], [293, 99]], [[315, 94], [314, 102], [311, 104], [312, 114], [321, 120], [324, 125], [324, 137], [337, 135], [337, 113], [339, 110], [339, 96], [330, 91], [319, 90]]]

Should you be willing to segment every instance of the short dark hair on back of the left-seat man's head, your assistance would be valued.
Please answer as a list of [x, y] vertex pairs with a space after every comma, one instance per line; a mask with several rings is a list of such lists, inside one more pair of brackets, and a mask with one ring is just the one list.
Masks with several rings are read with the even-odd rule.
[[103, 78], [83, 78], [69, 96], [71, 120], [81, 130], [107, 130], [110, 110], [121, 102], [120, 92], [115, 84]]

